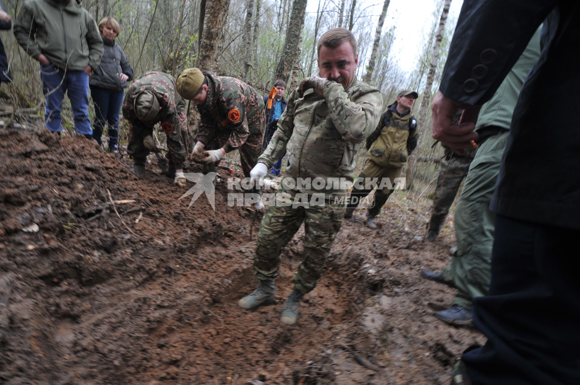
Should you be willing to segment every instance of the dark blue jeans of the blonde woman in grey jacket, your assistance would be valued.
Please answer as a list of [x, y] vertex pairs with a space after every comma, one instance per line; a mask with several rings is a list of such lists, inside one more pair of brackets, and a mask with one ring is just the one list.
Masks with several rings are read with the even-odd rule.
[[93, 139], [102, 143], [101, 135], [108, 123], [109, 147], [119, 143], [119, 111], [123, 102], [123, 90], [108, 90], [90, 87], [90, 96], [95, 103]]

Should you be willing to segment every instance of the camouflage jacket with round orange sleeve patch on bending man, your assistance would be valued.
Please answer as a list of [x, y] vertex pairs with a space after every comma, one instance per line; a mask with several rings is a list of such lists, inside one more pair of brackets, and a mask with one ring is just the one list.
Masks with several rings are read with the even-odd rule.
[[224, 145], [226, 152], [245, 143], [250, 134], [249, 122], [264, 109], [262, 96], [239, 79], [216, 76], [204, 71], [208, 79], [208, 98], [198, 106], [201, 115], [197, 140], [207, 144], [218, 131], [230, 131]]

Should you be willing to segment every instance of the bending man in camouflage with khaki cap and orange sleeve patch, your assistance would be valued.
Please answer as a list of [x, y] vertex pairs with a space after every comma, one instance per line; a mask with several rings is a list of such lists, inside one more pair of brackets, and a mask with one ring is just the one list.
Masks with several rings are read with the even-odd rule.
[[237, 149], [244, 175], [249, 177], [262, 148], [264, 102], [251, 86], [235, 78], [187, 68], [177, 76], [177, 92], [193, 100], [201, 115], [193, 153], [208, 155], [204, 173], [216, 171], [226, 153]]

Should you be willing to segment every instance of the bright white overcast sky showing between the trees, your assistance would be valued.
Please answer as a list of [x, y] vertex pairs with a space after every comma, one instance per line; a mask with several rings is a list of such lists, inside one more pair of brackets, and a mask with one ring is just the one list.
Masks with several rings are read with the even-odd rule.
[[[383, 9], [383, 1], [358, 0], [358, 3], [360, 4], [358, 9], [376, 4], [372, 8], [372, 14], [375, 15], [372, 20], [374, 38], [380, 11]], [[452, 0], [449, 10], [451, 19], [457, 19], [462, 4], [463, 0]], [[316, 15], [317, 6], [317, 0], [309, 0], [307, 12], [313, 12]], [[391, 0], [389, 3], [385, 24], [383, 24], [383, 33], [393, 25], [396, 27], [393, 53], [398, 57], [401, 68], [407, 72], [411, 72], [415, 68], [420, 43], [424, 38], [423, 36], [429, 31], [435, 9], [436, 0]]]

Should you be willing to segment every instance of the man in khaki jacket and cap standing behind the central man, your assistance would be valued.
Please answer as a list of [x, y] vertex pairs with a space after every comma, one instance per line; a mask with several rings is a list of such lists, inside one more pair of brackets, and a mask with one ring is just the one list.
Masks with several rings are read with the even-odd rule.
[[375, 132], [367, 138], [367, 161], [354, 181], [345, 218], [352, 217], [360, 199], [374, 189], [374, 185], [366, 182], [378, 178], [375, 204], [368, 209], [367, 216], [367, 226], [376, 228], [374, 219], [393, 193], [395, 179], [401, 176], [403, 166], [417, 146], [419, 131], [411, 110], [417, 97], [413, 90], [400, 91], [397, 100], [382, 113]]

